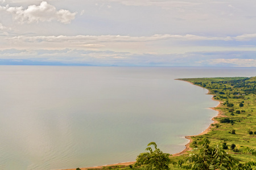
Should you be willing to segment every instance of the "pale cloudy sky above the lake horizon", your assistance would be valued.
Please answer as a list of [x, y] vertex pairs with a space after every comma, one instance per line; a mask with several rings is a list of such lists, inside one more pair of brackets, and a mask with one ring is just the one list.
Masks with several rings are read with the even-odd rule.
[[256, 1], [0, 0], [0, 65], [256, 67]]

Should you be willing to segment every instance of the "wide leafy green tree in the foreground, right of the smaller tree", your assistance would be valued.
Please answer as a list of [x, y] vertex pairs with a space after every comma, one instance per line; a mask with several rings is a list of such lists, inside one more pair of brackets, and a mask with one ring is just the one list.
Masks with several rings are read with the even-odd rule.
[[199, 142], [203, 147], [199, 154], [191, 154], [179, 162], [180, 167], [185, 169], [236, 169], [239, 163], [237, 159], [227, 154], [219, 145], [209, 146], [209, 140], [203, 138]]

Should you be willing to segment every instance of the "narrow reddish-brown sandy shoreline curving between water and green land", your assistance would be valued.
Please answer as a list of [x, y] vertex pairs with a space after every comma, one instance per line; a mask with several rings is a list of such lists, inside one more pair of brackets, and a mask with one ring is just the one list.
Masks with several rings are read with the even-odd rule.
[[[180, 81], [183, 81], [183, 82], [187, 82], [187, 83], [190, 83], [194, 86], [197, 86], [196, 84], [193, 84], [191, 82], [188, 82], [186, 80], [181, 80], [181, 79], [175, 79], [175, 80], [180, 80]], [[198, 87], [201, 87], [201, 86], [198, 86]], [[201, 88], [204, 88], [204, 87], [201, 87]], [[208, 90], [207, 88], [205, 88], [206, 90]], [[207, 94], [206, 95], [212, 95], [210, 94], [210, 91], [208, 90]], [[212, 107], [210, 109], [213, 109], [214, 111], [217, 111], [218, 114], [214, 117], [211, 118], [211, 120], [213, 121], [212, 124], [217, 124], [218, 121], [215, 120], [215, 118], [217, 117], [225, 117], [224, 115], [222, 115], [222, 112], [219, 110], [219, 109], [216, 109], [217, 107], [220, 107], [221, 105], [221, 101], [219, 100], [216, 100], [216, 99], [213, 99], [213, 95], [212, 95], [212, 100], [214, 101], [218, 101], [218, 105], [216, 107]], [[190, 147], [190, 144], [193, 142], [193, 139], [191, 137], [197, 137], [197, 136], [200, 136], [200, 135], [204, 135], [204, 134], [207, 134], [211, 129], [212, 129], [212, 124], [209, 125], [209, 127], [207, 129], [205, 129], [204, 131], [202, 131], [200, 134], [197, 134], [197, 135], [188, 135], [188, 136], [185, 136], [184, 138], [188, 139], [189, 142], [185, 145], [185, 149], [183, 151], [180, 151], [180, 152], [177, 152], [176, 154], [172, 154], [171, 157], [174, 157], [174, 156], [180, 156], [180, 155], [183, 155], [185, 154], [187, 151], [191, 151], [192, 148]], [[115, 163], [115, 164], [109, 164], [109, 165], [101, 165], [101, 166], [96, 166], [96, 167], [87, 167], [87, 168], [80, 168], [81, 170], [88, 170], [88, 169], [92, 169], [92, 168], [103, 168], [103, 167], [111, 167], [111, 166], [118, 166], [118, 165], [125, 165], [125, 166], [128, 166], [128, 165], [131, 165], [131, 164], [134, 164], [136, 161], [134, 162], [124, 162], [124, 163]], [[72, 169], [60, 169], [60, 170], [76, 170], [76, 168], [72, 168]]]

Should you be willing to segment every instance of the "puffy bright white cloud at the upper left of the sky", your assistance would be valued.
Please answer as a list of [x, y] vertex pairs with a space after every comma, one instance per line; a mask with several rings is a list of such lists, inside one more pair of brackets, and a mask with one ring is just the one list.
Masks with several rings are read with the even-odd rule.
[[75, 19], [77, 12], [70, 12], [68, 10], [59, 10], [52, 5], [49, 5], [46, 1], [40, 3], [39, 6], [31, 5], [26, 10], [20, 7], [10, 7], [9, 5], [0, 6], [0, 10], [13, 14], [14, 20], [19, 23], [33, 23], [33, 22], [50, 22], [57, 20], [61, 23], [70, 23]]

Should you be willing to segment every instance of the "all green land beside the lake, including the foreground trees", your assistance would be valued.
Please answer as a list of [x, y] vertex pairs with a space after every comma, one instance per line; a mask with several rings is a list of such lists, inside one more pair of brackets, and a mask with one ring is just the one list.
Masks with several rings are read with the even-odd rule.
[[[207, 88], [221, 113], [204, 135], [191, 137], [192, 151], [167, 159], [156, 144], [137, 163], [113, 169], [256, 169], [256, 76], [180, 79]], [[108, 168], [106, 168], [108, 169]]]

